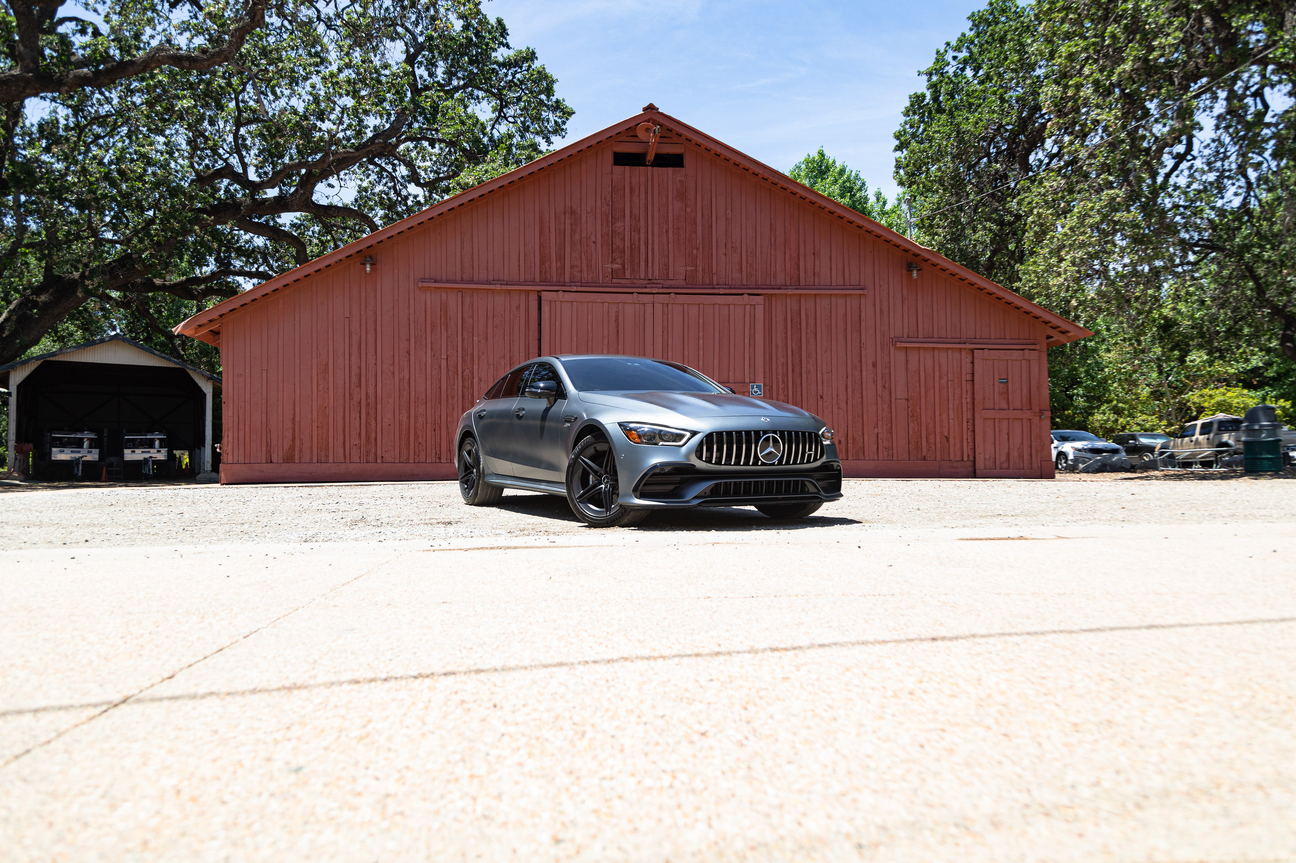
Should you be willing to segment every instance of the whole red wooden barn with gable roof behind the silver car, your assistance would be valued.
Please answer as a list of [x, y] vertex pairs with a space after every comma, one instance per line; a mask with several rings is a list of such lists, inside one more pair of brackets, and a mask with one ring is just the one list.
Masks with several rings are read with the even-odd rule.
[[1091, 335], [652, 105], [176, 331], [220, 347], [222, 483], [452, 479], [503, 371], [591, 352], [759, 384], [846, 476], [1052, 476], [1047, 349]]

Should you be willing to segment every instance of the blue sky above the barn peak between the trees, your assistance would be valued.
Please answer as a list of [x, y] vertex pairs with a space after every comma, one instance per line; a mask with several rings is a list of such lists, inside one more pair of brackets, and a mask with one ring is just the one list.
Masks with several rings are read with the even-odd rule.
[[787, 171], [823, 146], [896, 193], [894, 140], [919, 69], [984, 3], [490, 0], [575, 109], [568, 140], [653, 102]]

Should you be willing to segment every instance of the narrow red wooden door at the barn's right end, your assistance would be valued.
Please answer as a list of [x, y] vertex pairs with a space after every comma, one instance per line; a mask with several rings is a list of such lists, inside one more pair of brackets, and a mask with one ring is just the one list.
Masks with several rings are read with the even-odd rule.
[[1041, 351], [975, 351], [976, 475], [1050, 476], [1048, 378]]

